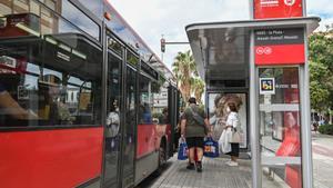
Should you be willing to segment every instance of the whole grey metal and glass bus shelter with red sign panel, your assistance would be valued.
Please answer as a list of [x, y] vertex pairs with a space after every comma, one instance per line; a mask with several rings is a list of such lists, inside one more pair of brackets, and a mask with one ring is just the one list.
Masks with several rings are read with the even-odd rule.
[[251, 154], [252, 187], [264, 187], [265, 172], [292, 188], [313, 187], [306, 40], [319, 22], [307, 17], [185, 27], [206, 83], [215, 138], [226, 105], [239, 107], [241, 148]]

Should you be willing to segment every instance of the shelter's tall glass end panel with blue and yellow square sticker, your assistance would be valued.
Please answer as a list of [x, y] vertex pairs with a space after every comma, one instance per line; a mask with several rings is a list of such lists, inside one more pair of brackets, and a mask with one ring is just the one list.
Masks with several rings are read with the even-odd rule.
[[[260, 68], [260, 144], [263, 176], [302, 187], [299, 68]], [[266, 187], [268, 185], [263, 185]]]

